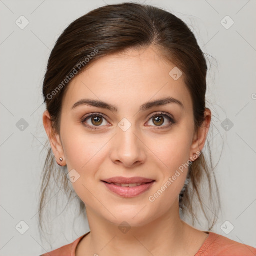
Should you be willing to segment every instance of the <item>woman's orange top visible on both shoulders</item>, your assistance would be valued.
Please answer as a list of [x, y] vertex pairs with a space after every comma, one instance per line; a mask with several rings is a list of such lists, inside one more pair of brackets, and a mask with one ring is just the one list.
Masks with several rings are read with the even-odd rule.
[[[205, 233], [209, 235], [194, 256], [256, 256], [256, 248], [254, 247], [236, 242], [220, 234], [213, 232]], [[40, 256], [75, 256], [75, 249], [79, 241], [86, 234], [80, 236], [72, 243]]]

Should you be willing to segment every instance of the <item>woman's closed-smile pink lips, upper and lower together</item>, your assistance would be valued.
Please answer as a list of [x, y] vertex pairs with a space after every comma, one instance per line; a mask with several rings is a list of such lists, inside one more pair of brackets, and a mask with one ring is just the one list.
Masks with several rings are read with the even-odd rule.
[[[101, 180], [105, 184], [105, 186], [112, 192], [122, 196], [122, 197], [134, 197], [145, 191], [147, 191], [152, 184], [155, 182], [153, 179], [143, 178], [143, 177], [113, 177], [105, 180]], [[107, 183], [108, 182], [108, 183]], [[111, 184], [109, 184], [111, 183]], [[139, 186], [118, 186], [113, 183], [121, 183], [121, 184], [131, 184], [131, 183], [145, 183]]]

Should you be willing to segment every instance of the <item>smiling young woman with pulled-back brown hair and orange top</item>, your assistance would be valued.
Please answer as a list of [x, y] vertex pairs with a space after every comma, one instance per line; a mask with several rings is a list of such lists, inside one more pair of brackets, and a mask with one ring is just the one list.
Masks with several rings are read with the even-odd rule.
[[211, 191], [206, 73], [186, 24], [153, 6], [103, 6], [64, 30], [43, 83], [55, 158], [49, 151], [40, 212], [55, 159], [90, 231], [50, 255], [256, 254], [181, 219], [194, 217], [193, 193], [202, 206], [203, 175]]

